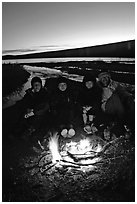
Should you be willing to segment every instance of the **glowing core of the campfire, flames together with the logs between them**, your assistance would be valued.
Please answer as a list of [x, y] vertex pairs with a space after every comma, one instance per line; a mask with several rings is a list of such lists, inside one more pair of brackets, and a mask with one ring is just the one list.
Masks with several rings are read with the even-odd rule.
[[52, 163], [57, 167], [72, 167], [85, 171], [85, 167], [93, 168], [93, 164], [99, 162], [101, 157], [96, 157], [102, 150], [98, 143], [93, 147], [89, 138], [79, 142], [67, 142], [59, 149], [59, 135], [56, 133], [49, 140], [49, 149], [52, 155]]

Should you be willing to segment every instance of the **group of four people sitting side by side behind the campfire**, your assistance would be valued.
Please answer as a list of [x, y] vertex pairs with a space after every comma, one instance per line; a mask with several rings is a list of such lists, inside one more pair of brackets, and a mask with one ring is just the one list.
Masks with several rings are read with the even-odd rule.
[[52, 92], [42, 86], [39, 77], [34, 77], [21, 100], [22, 121], [29, 133], [43, 125], [56, 128], [63, 137], [72, 137], [76, 125], [91, 133], [110, 122], [122, 130], [120, 127], [127, 117], [134, 129], [134, 99], [108, 72], [100, 73], [97, 78], [93, 74], [85, 75], [78, 93], [73, 90], [65, 77], [58, 77]]

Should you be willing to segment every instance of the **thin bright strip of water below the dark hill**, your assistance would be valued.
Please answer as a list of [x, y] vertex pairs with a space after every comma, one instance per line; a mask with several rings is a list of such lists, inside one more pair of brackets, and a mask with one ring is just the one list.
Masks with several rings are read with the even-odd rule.
[[121, 63], [135, 63], [135, 58], [119, 58], [119, 57], [74, 57], [74, 58], [34, 58], [34, 59], [13, 59], [2, 60], [2, 63], [56, 63], [56, 62], [68, 62], [68, 61], [104, 61], [104, 62], [121, 62]]

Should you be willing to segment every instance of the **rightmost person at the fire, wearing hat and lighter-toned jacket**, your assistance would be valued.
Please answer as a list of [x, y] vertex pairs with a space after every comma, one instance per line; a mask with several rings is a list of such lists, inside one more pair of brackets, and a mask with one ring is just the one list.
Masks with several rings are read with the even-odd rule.
[[[134, 124], [134, 100], [119, 82], [113, 81], [108, 72], [101, 72], [98, 75], [98, 84], [102, 88], [101, 109], [110, 116], [110, 119], [117, 122], [117, 130], [123, 126], [128, 116], [129, 121]], [[127, 121], [126, 121], [127, 122]], [[118, 134], [121, 134], [120, 131]]]

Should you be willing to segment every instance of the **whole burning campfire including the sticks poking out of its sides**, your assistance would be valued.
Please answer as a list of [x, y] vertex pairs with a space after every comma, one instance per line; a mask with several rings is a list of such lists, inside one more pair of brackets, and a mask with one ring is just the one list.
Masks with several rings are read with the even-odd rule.
[[[96, 171], [98, 165], [115, 158], [108, 158], [109, 147], [115, 146], [124, 137], [105, 142], [96, 135], [80, 135], [75, 138], [64, 139], [58, 133], [50, 134], [45, 146], [38, 141], [42, 151], [35, 165], [44, 174], [54, 170], [78, 170], [81, 172]], [[37, 151], [37, 149], [35, 149]]]

